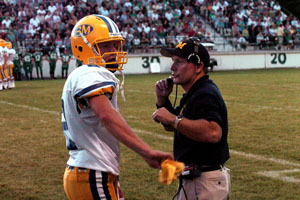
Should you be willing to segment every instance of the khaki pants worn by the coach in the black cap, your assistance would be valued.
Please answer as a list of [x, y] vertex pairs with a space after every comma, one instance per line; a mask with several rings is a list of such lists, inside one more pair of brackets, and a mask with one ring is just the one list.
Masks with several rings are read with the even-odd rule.
[[229, 199], [230, 187], [228, 168], [202, 172], [197, 178], [182, 180], [182, 188], [177, 200], [226, 200]]

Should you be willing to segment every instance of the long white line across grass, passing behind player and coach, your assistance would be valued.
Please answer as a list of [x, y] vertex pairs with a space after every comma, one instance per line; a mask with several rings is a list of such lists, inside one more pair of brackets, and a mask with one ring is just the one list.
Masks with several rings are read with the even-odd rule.
[[[26, 106], [26, 105], [19, 105], [19, 104], [10, 103], [10, 102], [1, 101], [1, 100], [0, 100], [0, 103], [15, 106], [15, 107], [21, 107], [21, 108], [26, 108], [26, 109], [30, 109], [30, 110], [35, 110], [35, 111], [38, 111], [38, 112], [54, 114], [54, 115], [57, 115], [57, 116], [60, 116], [60, 114], [61, 114], [60, 112], [56, 112], [56, 111], [45, 110], [45, 109], [40, 109], [40, 108]], [[170, 136], [155, 134], [155, 133], [150, 132], [150, 131], [140, 130], [140, 129], [136, 129], [136, 128], [133, 128], [133, 130], [137, 133], [141, 133], [141, 134], [144, 134], [144, 135], [151, 135], [151, 136], [154, 136], [154, 137], [157, 137], [157, 138], [160, 138], [160, 139], [173, 140], [173, 137], [170, 137]], [[294, 167], [300, 167], [300, 164], [289, 162], [289, 161], [282, 160], [282, 159], [265, 157], [265, 156], [260, 156], [260, 155], [256, 155], [256, 154], [235, 151], [235, 150], [232, 150], [232, 149], [230, 149], [230, 153], [233, 154], [233, 155], [242, 156], [242, 157], [246, 157], [246, 158], [251, 158], [251, 159], [255, 159], [255, 160], [269, 161], [269, 162], [274, 162], [274, 163], [281, 164], [281, 165], [289, 165], [289, 166], [294, 166]]]

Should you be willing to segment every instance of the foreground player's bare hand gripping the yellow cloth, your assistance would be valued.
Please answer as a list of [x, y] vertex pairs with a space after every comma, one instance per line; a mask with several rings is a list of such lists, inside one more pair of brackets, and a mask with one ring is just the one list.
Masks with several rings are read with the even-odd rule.
[[157, 150], [151, 150], [148, 155], [143, 157], [144, 160], [148, 163], [148, 165], [152, 168], [158, 168], [160, 169], [160, 164], [166, 160], [174, 160], [174, 157], [170, 153], [157, 151]]

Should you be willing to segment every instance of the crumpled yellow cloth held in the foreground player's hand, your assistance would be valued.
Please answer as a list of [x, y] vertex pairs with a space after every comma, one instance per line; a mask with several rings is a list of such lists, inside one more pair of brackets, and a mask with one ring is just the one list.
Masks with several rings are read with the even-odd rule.
[[173, 160], [165, 160], [161, 163], [161, 170], [159, 171], [159, 182], [163, 184], [171, 184], [176, 180], [177, 176], [183, 172], [184, 163]]

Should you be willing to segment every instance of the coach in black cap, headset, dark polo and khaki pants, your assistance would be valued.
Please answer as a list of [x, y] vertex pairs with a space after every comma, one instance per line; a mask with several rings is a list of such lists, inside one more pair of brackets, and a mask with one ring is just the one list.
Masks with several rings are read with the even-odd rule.
[[[227, 108], [207, 75], [209, 53], [196, 37], [160, 52], [172, 58], [172, 76], [156, 82], [158, 109], [152, 117], [174, 131], [174, 157], [186, 165], [177, 199], [229, 199]], [[169, 100], [174, 84], [185, 91], [176, 108]]]

